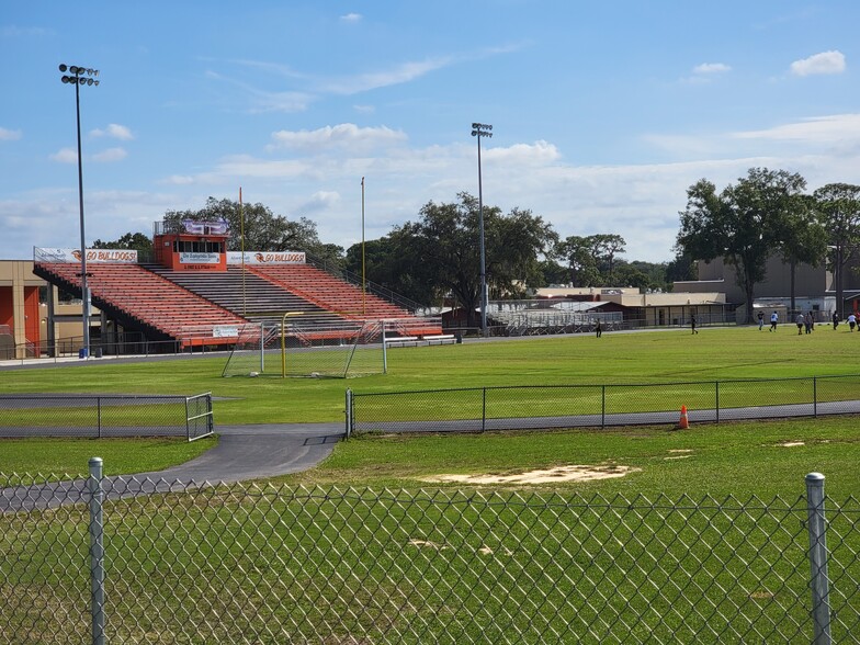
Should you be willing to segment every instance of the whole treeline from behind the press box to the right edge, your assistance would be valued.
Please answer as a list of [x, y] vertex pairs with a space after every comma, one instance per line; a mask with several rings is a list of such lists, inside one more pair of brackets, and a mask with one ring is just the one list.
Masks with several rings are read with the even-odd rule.
[[[346, 250], [324, 244], [314, 222], [286, 219], [259, 203], [240, 207], [210, 197], [199, 211], [169, 211], [163, 218], [226, 219], [228, 250], [303, 250], [412, 301], [453, 303], [472, 315], [480, 303], [482, 219], [490, 299], [523, 298], [531, 288], [554, 284], [670, 291], [676, 281], [695, 280], [695, 260], [722, 258], [736, 268], [738, 285], [751, 303], [768, 258], [778, 256], [792, 272], [801, 263], [826, 262], [836, 278], [837, 302], [842, 302], [842, 273], [860, 248], [860, 186], [831, 183], [807, 194], [806, 181], [797, 173], [751, 168], [720, 192], [702, 179], [690, 186], [687, 197], [676, 257], [663, 263], [624, 259], [626, 241], [620, 235], [562, 238], [529, 210], [503, 213], [484, 206], [482, 217], [478, 200], [466, 192], [454, 202], [429, 202], [415, 220]], [[151, 242], [143, 234], [127, 234], [94, 246], [146, 252]], [[751, 315], [751, 307], [747, 310]]]

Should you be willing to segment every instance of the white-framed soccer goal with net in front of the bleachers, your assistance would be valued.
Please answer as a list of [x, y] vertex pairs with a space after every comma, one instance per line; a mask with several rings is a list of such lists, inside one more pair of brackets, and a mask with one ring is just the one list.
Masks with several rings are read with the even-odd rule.
[[245, 325], [222, 376], [348, 378], [385, 371], [382, 320]]

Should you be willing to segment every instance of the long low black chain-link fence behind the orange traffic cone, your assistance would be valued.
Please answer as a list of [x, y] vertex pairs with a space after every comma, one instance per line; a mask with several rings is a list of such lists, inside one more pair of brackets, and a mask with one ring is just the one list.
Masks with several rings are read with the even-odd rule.
[[516, 430], [860, 412], [860, 375], [621, 385], [347, 391], [347, 434]]

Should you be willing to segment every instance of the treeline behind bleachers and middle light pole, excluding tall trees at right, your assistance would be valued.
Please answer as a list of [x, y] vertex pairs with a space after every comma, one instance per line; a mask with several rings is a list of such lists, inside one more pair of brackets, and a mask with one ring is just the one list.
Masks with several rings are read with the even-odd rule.
[[[480, 304], [480, 219], [476, 197], [460, 193], [451, 203], [429, 202], [414, 222], [364, 245], [343, 249], [320, 241], [316, 224], [286, 219], [262, 204], [242, 204], [210, 197], [199, 211], [169, 211], [166, 223], [182, 219], [226, 219], [228, 250], [303, 250], [317, 260], [352, 271], [412, 301], [454, 303], [467, 313]], [[672, 280], [687, 280], [692, 263], [627, 261], [620, 235], [559, 238], [550, 223], [529, 210], [502, 213], [483, 208], [485, 265], [490, 299], [524, 298], [529, 290], [552, 284], [573, 286], [634, 286], [646, 291], [671, 288]], [[95, 248], [128, 248], [148, 253], [151, 241], [143, 234], [118, 240], [97, 240]], [[473, 321], [471, 320], [469, 324]]]

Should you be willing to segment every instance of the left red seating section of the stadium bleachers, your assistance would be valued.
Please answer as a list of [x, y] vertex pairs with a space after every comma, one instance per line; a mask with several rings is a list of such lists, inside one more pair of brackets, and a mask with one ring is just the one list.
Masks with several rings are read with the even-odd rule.
[[[34, 272], [69, 292], [80, 291], [80, 264], [36, 263]], [[183, 347], [223, 344], [213, 338], [216, 326], [240, 326], [241, 317], [139, 264], [91, 263], [87, 286], [93, 304], [131, 322], [149, 328]]]

